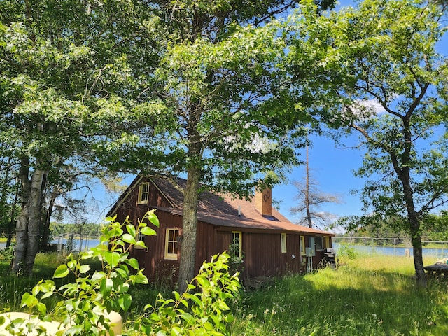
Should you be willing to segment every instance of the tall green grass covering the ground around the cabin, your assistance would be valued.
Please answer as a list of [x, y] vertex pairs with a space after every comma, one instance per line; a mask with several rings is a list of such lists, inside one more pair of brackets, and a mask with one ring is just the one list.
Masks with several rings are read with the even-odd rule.
[[[245, 288], [232, 303], [230, 335], [448, 335], [448, 281], [414, 281], [412, 258], [348, 255], [337, 269], [276, 279], [260, 289]], [[38, 255], [31, 279], [8, 275], [0, 260], [0, 310], [20, 309], [20, 299], [40, 279], [51, 279], [63, 260]], [[425, 265], [435, 262], [427, 258]], [[164, 296], [169, 295], [166, 288]], [[157, 288], [134, 290], [132, 322], [145, 304], [154, 304]], [[126, 325], [126, 323], [125, 323]]]

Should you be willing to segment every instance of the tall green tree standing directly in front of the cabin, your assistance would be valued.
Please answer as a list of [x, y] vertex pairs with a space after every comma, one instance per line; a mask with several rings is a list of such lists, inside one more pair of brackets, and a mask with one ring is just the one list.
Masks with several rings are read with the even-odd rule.
[[[204, 189], [244, 197], [296, 165], [307, 102], [290, 99], [287, 48], [273, 20], [296, 1], [154, 1], [158, 66], [127, 113], [140, 125], [98, 149], [102, 163], [167, 178], [185, 174], [179, 288], [195, 275], [197, 204]], [[146, 125], [146, 127], [143, 127]], [[132, 142], [134, 141], [134, 143]], [[111, 160], [112, 159], [112, 160]], [[114, 159], [114, 160], [113, 160]], [[269, 172], [269, 174], [265, 174]], [[274, 172], [275, 174], [271, 174]]]

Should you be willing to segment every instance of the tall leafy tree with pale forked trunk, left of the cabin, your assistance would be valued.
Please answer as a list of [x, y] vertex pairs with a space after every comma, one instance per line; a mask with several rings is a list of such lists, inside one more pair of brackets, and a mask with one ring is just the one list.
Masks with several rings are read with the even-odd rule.
[[45, 186], [57, 179], [49, 174], [59, 165], [92, 169], [90, 144], [103, 134], [90, 116], [108, 113], [123, 92], [132, 94], [123, 57], [151, 43], [140, 22], [146, 7], [131, 1], [0, 2], [0, 139], [13, 148], [22, 206], [13, 272], [32, 272], [43, 194], [50, 190]]

